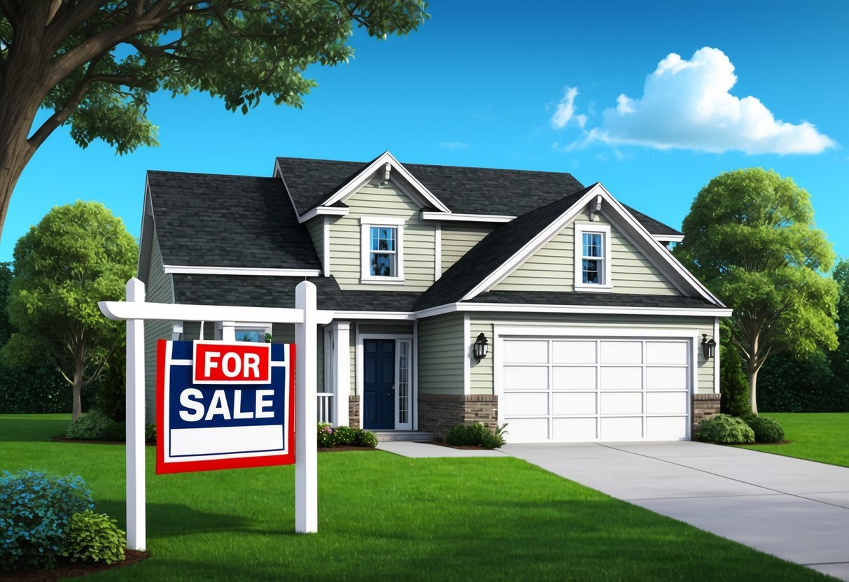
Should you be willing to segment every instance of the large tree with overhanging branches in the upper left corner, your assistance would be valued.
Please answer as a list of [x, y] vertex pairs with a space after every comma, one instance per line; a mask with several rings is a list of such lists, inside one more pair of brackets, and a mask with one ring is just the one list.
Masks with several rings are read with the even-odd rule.
[[[407, 34], [424, 0], [0, 0], [0, 232], [14, 185], [59, 126], [119, 154], [156, 143], [151, 92], [209, 92], [227, 109], [301, 106], [311, 64], [347, 62], [353, 25]], [[50, 109], [40, 126], [37, 111]], [[33, 131], [34, 130], [34, 131]]]

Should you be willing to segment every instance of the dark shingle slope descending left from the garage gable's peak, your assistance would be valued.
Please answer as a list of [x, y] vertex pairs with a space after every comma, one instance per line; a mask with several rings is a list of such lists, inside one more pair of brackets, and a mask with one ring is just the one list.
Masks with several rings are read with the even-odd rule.
[[515, 255], [523, 246], [554, 222], [572, 204], [587, 193], [586, 187], [537, 210], [531, 210], [513, 221], [504, 223], [475, 244], [468, 253], [442, 273], [439, 281], [430, 286], [416, 303], [416, 309], [427, 309], [459, 301], [492, 271]]

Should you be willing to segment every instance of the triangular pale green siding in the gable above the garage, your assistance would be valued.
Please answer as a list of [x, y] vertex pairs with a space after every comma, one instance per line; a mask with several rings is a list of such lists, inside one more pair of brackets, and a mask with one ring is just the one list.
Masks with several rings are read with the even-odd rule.
[[612, 293], [680, 295], [657, 268], [609, 221], [582, 213], [495, 286], [497, 291], [572, 291], [575, 282], [575, 223], [610, 227]]

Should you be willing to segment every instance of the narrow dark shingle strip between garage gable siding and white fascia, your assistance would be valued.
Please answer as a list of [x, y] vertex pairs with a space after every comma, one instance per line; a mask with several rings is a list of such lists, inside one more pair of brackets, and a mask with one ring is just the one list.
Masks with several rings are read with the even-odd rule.
[[[465, 303], [465, 302], [464, 302]], [[707, 299], [681, 295], [639, 295], [626, 293], [580, 293], [549, 291], [490, 291], [468, 303], [515, 303], [527, 305], [605, 305], [609, 307], [694, 307], [716, 308]]]

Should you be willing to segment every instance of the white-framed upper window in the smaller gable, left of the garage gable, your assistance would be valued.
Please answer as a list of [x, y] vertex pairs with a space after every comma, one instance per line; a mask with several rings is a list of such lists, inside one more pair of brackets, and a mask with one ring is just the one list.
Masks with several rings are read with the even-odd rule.
[[360, 219], [362, 239], [361, 280], [371, 283], [403, 283], [403, 221], [375, 217]]

